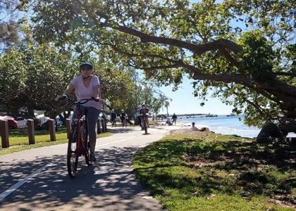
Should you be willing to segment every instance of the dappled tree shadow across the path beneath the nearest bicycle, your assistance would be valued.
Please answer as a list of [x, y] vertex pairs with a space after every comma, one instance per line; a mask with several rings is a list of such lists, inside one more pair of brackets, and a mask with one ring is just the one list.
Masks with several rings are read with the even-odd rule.
[[1, 192], [52, 163], [0, 201], [0, 210], [163, 210], [155, 199], [143, 198], [149, 193], [132, 174], [132, 156], [137, 150], [137, 147], [101, 149], [97, 151], [97, 162], [90, 166], [81, 157], [80, 172], [74, 179], [68, 177], [64, 155], [32, 163], [0, 162]]

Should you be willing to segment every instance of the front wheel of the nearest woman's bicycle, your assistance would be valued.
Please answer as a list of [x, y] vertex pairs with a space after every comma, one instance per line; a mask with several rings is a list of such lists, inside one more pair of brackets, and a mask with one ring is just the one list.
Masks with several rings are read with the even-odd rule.
[[73, 127], [71, 130], [70, 138], [68, 139], [67, 151], [67, 169], [69, 177], [73, 178], [77, 174], [78, 167], [78, 152], [77, 152], [78, 130]]

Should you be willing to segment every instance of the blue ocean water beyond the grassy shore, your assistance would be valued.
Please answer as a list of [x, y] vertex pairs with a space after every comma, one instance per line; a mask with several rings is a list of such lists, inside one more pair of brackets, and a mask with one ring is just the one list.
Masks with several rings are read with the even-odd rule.
[[[195, 122], [195, 126], [209, 127], [209, 129], [218, 134], [238, 135], [242, 137], [254, 138], [260, 129], [258, 127], [248, 127], [239, 120], [238, 116], [227, 117], [218, 115], [218, 117], [178, 117], [178, 122]], [[187, 124], [186, 124], [187, 125]]]

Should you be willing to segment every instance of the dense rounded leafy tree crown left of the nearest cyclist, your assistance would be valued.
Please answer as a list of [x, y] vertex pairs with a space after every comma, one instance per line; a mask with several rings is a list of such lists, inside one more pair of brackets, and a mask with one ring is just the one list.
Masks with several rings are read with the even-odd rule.
[[47, 45], [11, 48], [0, 61], [0, 82], [5, 84], [0, 104], [13, 113], [22, 107], [52, 110], [54, 98], [74, 76], [71, 60]]

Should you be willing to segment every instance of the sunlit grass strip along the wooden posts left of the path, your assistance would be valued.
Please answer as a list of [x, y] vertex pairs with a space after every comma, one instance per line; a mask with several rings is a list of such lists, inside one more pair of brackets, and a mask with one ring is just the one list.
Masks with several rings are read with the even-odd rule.
[[[111, 135], [112, 133], [110, 132], [101, 133], [97, 135], [97, 138]], [[0, 155], [24, 151], [30, 148], [38, 148], [42, 146], [51, 146], [60, 143], [68, 143], [66, 127], [58, 127], [58, 132], [56, 132], [56, 141], [50, 141], [48, 131], [35, 131], [35, 144], [29, 145], [26, 129], [10, 129], [8, 139], [10, 147], [0, 148]]]

